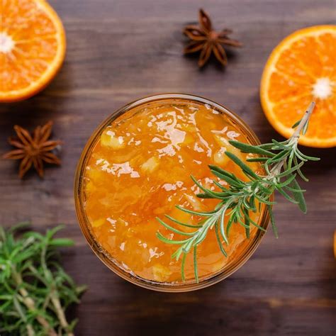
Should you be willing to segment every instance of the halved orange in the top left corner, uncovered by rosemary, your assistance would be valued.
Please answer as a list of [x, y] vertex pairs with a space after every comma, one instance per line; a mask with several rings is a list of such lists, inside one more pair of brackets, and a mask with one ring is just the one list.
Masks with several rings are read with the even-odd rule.
[[64, 57], [65, 30], [46, 1], [0, 1], [0, 102], [44, 89]]

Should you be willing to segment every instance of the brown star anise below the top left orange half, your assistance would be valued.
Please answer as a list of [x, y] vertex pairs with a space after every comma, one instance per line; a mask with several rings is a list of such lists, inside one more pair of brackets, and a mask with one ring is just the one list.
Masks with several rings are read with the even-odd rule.
[[21, 159], [18, 176], [22, 179], [32, 165], [35, 167], [38, 175], [43, 177], [43, 162], [50, 164], [61, 164], [60, 159], [53, 154], [55, 149], [62, 142], [60, 140], [48, 140], [52, 131], [52, 121], [44, 126], [38, 126], [30, 135], [28, 130], [15, 125], [17, 138], [9, 138], [9, 143], [18, 148], [6, 153], [4, 159]]

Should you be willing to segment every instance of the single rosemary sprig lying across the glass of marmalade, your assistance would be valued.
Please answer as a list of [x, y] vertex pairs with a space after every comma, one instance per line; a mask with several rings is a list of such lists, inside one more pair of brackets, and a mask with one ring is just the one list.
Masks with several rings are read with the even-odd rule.
[[[254, 225], [259, 230], [265, 231], [260, 227], [251, 217], [251, 212], [256, 213], [260, 211], [261, 205], [265, 204], [269, 211], [271, 227], [274, 231], [274, 235], [278, 237], [276, 225], [274, 222], [274, 215], [272, 211], [272, 205], [275, 203], [270, 201], [271, 195], [274, 191], [284, 196], [288, 201], [298, 204], [298, 207], [306, 213], [306, 201], [303, 196], [305, 190], [301, 189], [296, 181], [296, 177], [301, 177], [304, 181], [308, 179], [301, 172], [301, 167], [308, 160], [317, 161], [317, 157], [309, 157], [304, 155], [298, 150], [298, 139], [301, 133], [304, 135], [308, 129], [308, 121], [311, 113], [315, 107], [315, 103], [310, 103], [308, 110], [304, 114], [301, 121], [298, 121], [293, 125], [296, 128], [291, 138], [286, 141], [278, 142], [272, 140], [271, 143], [264, 145], [247, 145], [243, 142], [230, 140], [230, 144], [244, 153], [252, 153], [258, 155], [247, 159], [248, 162], [260, 162], [264, 167], [264, 175], [258, 175], [241, 159], [231, 152], [225, 152], [235, 164], [237, 164], [242, 172], [247, 176], [248, 181], [242, 181], [234, 174], [226, 172], [224, 169], [216, 166], [209, 166], [211, 172], [215, 177], [219, 177], [225, 181], [228, 186], [223, 186], [217, 181], [213, 181], [218, 186], [219, 191], [213, 191], [202, 186], [197, 179], [191, 176], [194, 183], [201, 189], [202, 193], [197, 194], [199, 198], [215, 198], [218, 199], [218, 204], [213, 211], [198, 212], [192, 211], [187, 208], [177, 206], [181, 211], [190, 213], [191, 215], [198, 215], [202, 220], [198, 225], [190, 225], [188, 223], [181, 223], [174, 218], [166, 216], [169, 220], [172, 220], [178, 225], [184, 225], [187, 227], [195, 228], [191, 233], [185, 233], [177, 228], [168, 225], [163, 220], [159, 220], [165, 228], [172, 231], [172, 233], [178, 233], [179, 235], [186, 236], [184, 240], [169, 240], [162, 233], [157, 232], [157, 238], [167, 244], [178, 245], [177, 250], [172, 254], [172, 258], [179, 260], [182, 256], [181, 262], [181, 278], [185, 279], [184, 275], [184, 263], [186, 254], [194, 252], [194, 274], [196, 282], [198, 282], [197, 271], [197, 247], [206, 239], [208, 230], [215, 230], [215, 234], [218, 241], [218, 247], [223, 255], [226, 257], [225, 248], [223, 245], [228, 245], [228, 237], [230, 235], [230, 228], [232, 225], [242, 225], [245, 228], [246, 237], [250, 237], [250, 225]], [[225, 216], [228, 216], [228, 220], [225, 220]]]

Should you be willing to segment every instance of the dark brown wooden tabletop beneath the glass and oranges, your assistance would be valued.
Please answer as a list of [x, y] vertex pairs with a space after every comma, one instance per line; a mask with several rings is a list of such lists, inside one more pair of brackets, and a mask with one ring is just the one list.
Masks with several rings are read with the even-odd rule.
[[[96, 125], [116, 108], [164, 92], [199, 94], [233, 109], [262, 141], [281, 139], [259, 103], [259, 80], [272, 48], [293, 30], [333, 23], [329, 0], [53, 0], [67, 31], [62, 70], [38, 96], [0, 106], [0, 153], [16, 123], [26, 128], [55, 121], [65, 142], [62, 167], [45, 179], [20, 181], [13, 162], [0, 161], [0, 221], [30, 220], [36, 230], [65, 223], [76, 247], [66, 269], [89, 285], [77, 335], [335, 335], [336, 150], [306, 149], [322, 158], [309, 164], [308, 214], [278, 197], [279, 240], [269, 232], [250, 261], [229, 279], [191, 293], [157, 293], [109, 271], [82, 236], [74, 213], [74, 170]], [[235, 30], [244, 47], [230, 53], [224, 71], [211, 62], [198, 70], [183, 57], [181, 28], [199, 6], [215, 26]], [[308, 55], [307, 55], [308, 57]]]

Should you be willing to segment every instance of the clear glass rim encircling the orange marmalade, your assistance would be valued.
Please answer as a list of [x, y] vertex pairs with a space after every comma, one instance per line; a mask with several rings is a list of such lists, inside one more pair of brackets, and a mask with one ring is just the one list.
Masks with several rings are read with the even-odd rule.
[[[130, 271], [125, 271], [119, 264], [116, 259], [114, 259], [106, 250], [103, 249], [99, 245], [99, 242], [96, 241], [93, 233], [89, 228], [90, 222], [89, 219], [86, 217], [86, 213], [84, 211], [84, 204], [83, 204], [83, 177], [84, 177], [84, 169], [86, 167], [87, 159], [91, 154], [91, 150], [93, 149], [96, 142], [99, 140], [99, 135], [103, 132], [107, 125], [110, 125], [118, 116], [121, 116], [123, 113], [130, 111], [130, 109], [141, 106], [145, 103], [152, 103], [155, 101], [163, 101], [165, 99], [180, 99], [186, 101], [194, 101], [196, 103], [203, 103], [208, 104], [211, 107], [218, 110], [220, 113], [224, 113], [228, 116], [231, 120], [235, 121], [240, 128], [245, 131], [245, 135], [247, 136], [248, 140], [252, 145], [260, 145], [260, 141], [257, 138], [257, 135], [252, 131], [250, 126], [248, 126], [245, 121], [242, 120], [239, 116], [237, 116], [233, 111], [229, 108], [226, 108], [223, 105], [215, 103], [215, 101], [211, 101], [209, 99], [203, 98], [201, 96], [196, 96], [193, 94], [155, 94], [151, 96], [146, 96], [142, 99], [137, 99], [132, 101], [121, 108], [118, 108], [116, 111], [113, 111], [108, 118], [106, 118], [90, 135], [89, 140], [87, 140], [84, 149], [82, 150], [82, 155], [79, 158], [79, 162], [77, 164], [76, 173], [74, 177], [74, 201], [75, 201], [75, 208], [77, 214], [77, 220], [79, 222], [79, 227], [82, 230], [82, 233], [88, 242], [91, 250], [96, 254], [96, 256], [105, 264], [111, 271], [116, 273], [121, 278], [129, 281], [135, 285], [141, 286], [145, 289], [152, 289], [154, 291], [163, 291], [163, 292], [185, 292], [185, 291], [194, 291], [196, 289], [202, 289], [213, 284], [222, 281], [223, 279], [227, 278], [231, 274], [233, 274], [237, 269], [240, 269], [245, 262], [252, 256], [254, 251], [259, 246], [262, 237], [264, 236], [265, 231], [257, 230], [254, 237], [252, 238], [250, 244], [245, 247], [245, 249], [240, 253], [237, 259], [234, 259], [233, 262], [228, 264], [228, 267], [223, 267], [219, 271], [210, 274], [209, 276], [205, 276], [198, 283], [194, 280], [189, 280], [184, 283], [175, 283], [175, 282], [158, 282], [143, 279], [140, 276], [133, 274]], [[273, 196], [271, 197], [273, 199]], [[262, 210], [259, 216], [258, 224], [262, 226], [265, 230], [267, 230], [267, 226], [269, 224], [269, 212], [267, 211], [267, 206], [264, 204], [262, 205]]]

